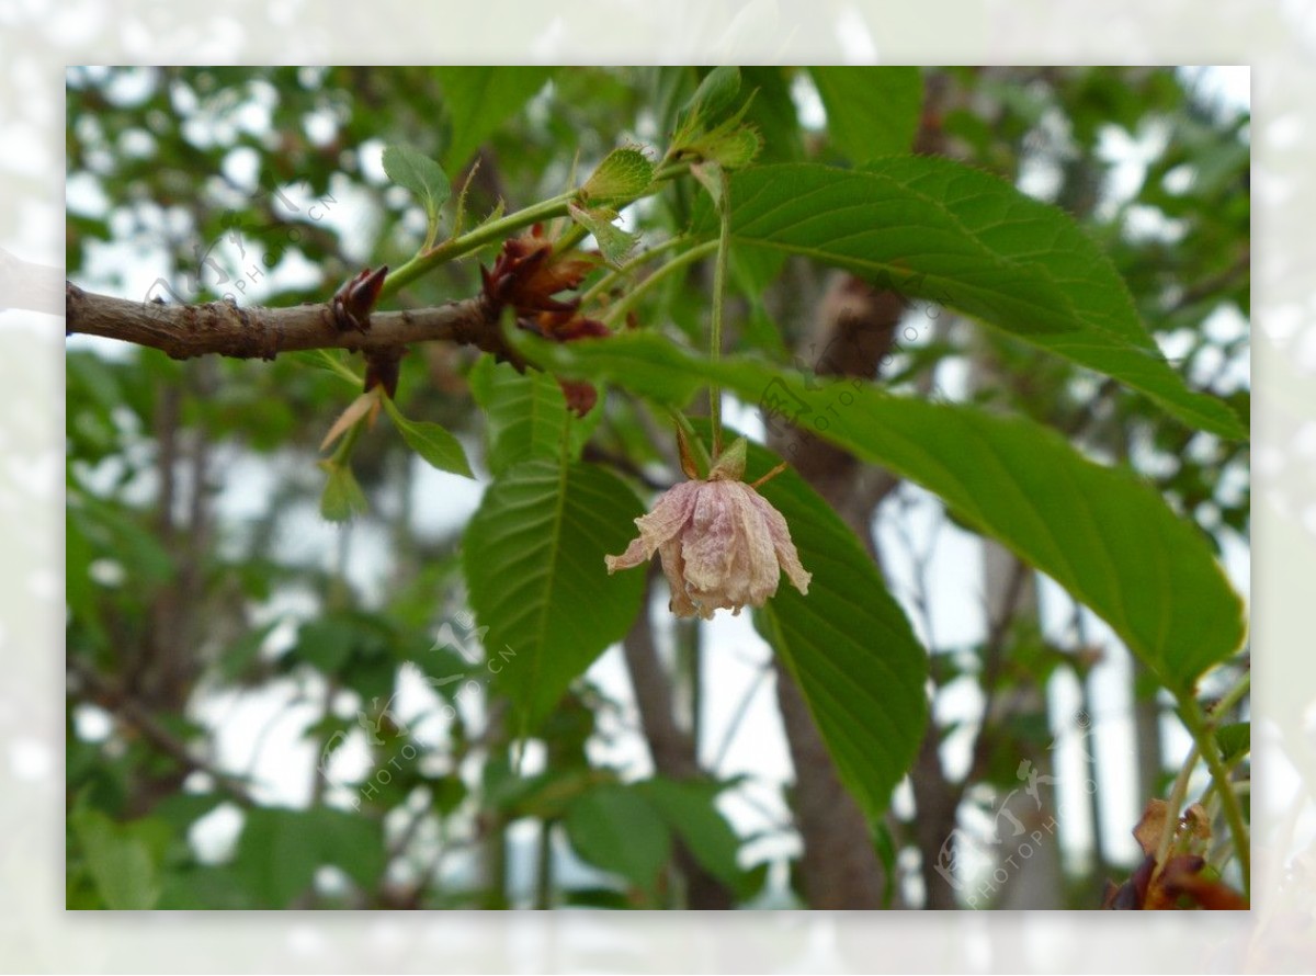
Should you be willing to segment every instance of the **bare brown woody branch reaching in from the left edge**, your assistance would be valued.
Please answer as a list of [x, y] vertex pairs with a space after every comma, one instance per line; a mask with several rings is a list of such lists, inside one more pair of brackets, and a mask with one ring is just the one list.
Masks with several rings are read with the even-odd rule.
[[174, 359], [225, 355], [274, 359], [308, 349], [388, 350], [445, 339], [475, 346], [519, 363], [503, 338], [494, 308], [483, 299], [437, 308], [375, 312], [370, 330], [342, 330], [328, 304], [243, 308], [228, 301], [171, 305], [129, 301], [64, 283], [64, 331], [101, 335], [162, 350]]

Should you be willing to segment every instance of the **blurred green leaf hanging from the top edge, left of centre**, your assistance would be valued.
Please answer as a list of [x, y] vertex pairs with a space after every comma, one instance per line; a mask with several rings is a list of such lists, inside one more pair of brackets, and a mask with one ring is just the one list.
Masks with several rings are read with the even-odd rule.
[[455, 172], [470, 162], [484, 139], [544, 87], [553, 70], [511, 64], [453, 66], [437, 67], [434, 74], [443, 87], [442, 108], [451, 130], [443, 167]]

